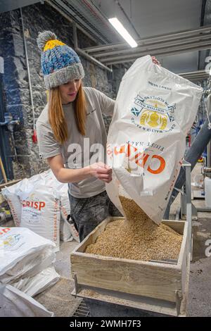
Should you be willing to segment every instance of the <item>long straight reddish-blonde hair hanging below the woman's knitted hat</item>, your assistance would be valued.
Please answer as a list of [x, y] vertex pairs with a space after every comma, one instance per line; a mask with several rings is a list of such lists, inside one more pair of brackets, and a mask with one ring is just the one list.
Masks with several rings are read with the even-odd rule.
[[[80, 85], [75, 101], [73, 102], [73, 107], [77, 129], [81, 135], [84, 136], [86, 133], [87, 102], [82, 89], [82, 84]], [[49, 123], [51, 124], [54, 137], [60, 144], [63, 144], [68, 139], [68, 125], [65, 122], [65, 114], [58, 87], [53, 87], [49, 91]]]

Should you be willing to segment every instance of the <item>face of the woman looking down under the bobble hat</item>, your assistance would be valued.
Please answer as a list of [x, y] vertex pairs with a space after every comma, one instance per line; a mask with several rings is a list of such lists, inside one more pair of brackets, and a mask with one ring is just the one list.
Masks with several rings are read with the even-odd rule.
[[70, 80], [70, 82], [58, 87], [62, 104], [69, 104], [75, 100], [81, 83], [82, 80]]

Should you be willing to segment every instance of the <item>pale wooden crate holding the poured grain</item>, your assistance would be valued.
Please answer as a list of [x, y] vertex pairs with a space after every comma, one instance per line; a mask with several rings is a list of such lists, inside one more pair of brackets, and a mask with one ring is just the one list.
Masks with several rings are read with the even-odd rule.
[[[108, 290], [136, 298], [153, 298], [175, 306], [176, 313], [184, 313], [188, 285], [190, 254], [188, 254], [188, 224], [184, 221], [163, 220], [173, 230], [183, 235], [178, 261], [135, 261], [85, 254], [89, 244], [94, 244], [106, 225], [119, 218], [106, 218], [70, 255], [72, 277], [80, 289]], [[110, 291], [110, 292], [109, 292]], [[76, 291], [77, 292], [77, 291]]]

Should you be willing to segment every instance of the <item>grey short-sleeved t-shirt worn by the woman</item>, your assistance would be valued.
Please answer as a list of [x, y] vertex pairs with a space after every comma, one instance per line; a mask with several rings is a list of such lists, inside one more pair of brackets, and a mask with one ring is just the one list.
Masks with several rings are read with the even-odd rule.
[[[37, 120], [37, 138], [39, 153], [42, 158], [61, 154], [65, 168], [83, 168], [102, 161], [106, 163], [106, 128], [102, 113], [113, 115], [115, 101], [92, 87], [84, 87], [87, 100], [86, 135], [77, 129], [72, 103], [63, 105], [65, 120], [68, 125], [68, 140], [59, 144], [53, 136], [49, 124], [48, 104]], [[87, 198], [103, 192], [104, 182], [96, 177], [89, 177], [81, 182], [69, 183], [69, 192], [77, 198]]]

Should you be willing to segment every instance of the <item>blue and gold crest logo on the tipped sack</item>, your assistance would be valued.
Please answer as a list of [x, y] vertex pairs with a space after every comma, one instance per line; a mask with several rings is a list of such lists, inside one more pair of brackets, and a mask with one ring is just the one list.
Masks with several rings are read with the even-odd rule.
[[[132, 122], [139, 128], [156, 128], [158, 130], [171, 130], [174, 122], [174, 110], [176, 105], [170, 106], [167, 101], [160, 96], [145, 96], [141, 97], [139, 94], [134, 98], [134, 106], [131, 109]], [[171, 131], [170, 130], [170, 131]]]

